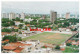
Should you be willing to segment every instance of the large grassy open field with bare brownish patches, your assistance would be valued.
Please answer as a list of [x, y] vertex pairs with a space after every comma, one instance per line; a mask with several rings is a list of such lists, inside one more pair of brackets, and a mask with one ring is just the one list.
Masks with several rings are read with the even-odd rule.
[[65, 40], [67, 40], [69, 37], [71, 37], [71, 34], [43, 32], [27, 38], [23, 38], [23, 40], [40, 40], [41, 42], [44, 42], [44, 43], [61, 44]]

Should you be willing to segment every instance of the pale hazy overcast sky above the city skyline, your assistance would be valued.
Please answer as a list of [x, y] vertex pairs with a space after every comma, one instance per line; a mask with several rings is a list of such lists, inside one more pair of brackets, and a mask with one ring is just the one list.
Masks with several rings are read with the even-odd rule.
[[79, 13], [79, 2], [74, 1], [6, 1], [2, 2], [2, 13], [31, 13], [31, 14], [50, 14], [50, 10], [59, 14], [70, 12], [71, 14]]

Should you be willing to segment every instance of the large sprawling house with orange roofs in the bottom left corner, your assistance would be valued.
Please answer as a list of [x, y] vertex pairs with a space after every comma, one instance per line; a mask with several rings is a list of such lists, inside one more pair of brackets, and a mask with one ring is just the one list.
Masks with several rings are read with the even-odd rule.
[[30, 52], [32, 48], [32, 44], [25, 44], [24, 42], [15, 42], [15, 43], [8, 43], [2, 47], [5, 52], [13, 51], [14, 53], [20, 52]]

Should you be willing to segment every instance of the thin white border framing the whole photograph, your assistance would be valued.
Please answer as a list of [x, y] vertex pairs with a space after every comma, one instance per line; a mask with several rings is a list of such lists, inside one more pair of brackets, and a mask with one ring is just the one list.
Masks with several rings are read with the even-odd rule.
[[[6, 1], [6, 2], [7, 1], [69, 1], [69, 2], [75, 1], [76, 2], [79, 0], [2, 0], [2, 1], [0, 0], [0, 30], [1, 30], [1, 2], [4, 2], [4, 1]], [[80, 6], [80, 4], [79, 4], [79, 6]], [[79, 7], [79, 10], [80, 10], [80, 7]], [[79, 13], [80, 13], [80, 11], [79, 11]], [[79, 14], [79, 16], [80, 16], [80, 14]], [[79, 21], [80, 21], [80, 19], [79, 19]], [[80, 24], [79, 24], [79, 26], [80, 26]], [[79, 31], [79, 33], [80, 33], [80, 31]], [[1, 37], [1, 31], [0, 31], [0, 37]], [[80, 37], [79, 37], [79, 39], [80, 39]], [[80, 41], [79, 41], [79, 43], [80, 43]], [[0, 38], [0, 53], [1, 53], [1, 38]], [[22, 54], [22, 53], [2, 53], [2, 54]], [[27, 54], [35, 54], [35, 53], [27, 53]], [[38, 53], [38, 54], [44, 54], [44, 53]], [[46, 54], [48, 54], [48, 53], [46, 53]], [[58, 53], [49, 53], [49, 54], [58, 54]], [[60, 53], [60, 54], [67, 54], [67, 53]], [[79, 53], [69, 53], [69, 54], [79, 54]]]

